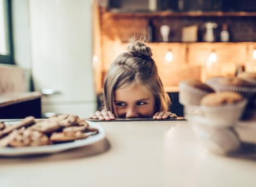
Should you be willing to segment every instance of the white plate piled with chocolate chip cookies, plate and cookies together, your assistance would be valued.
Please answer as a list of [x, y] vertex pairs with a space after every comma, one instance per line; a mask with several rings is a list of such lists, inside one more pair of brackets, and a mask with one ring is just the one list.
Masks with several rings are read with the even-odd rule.
[[100, 125], [76, 115], [60, 114], [40, 120], [27, 117], [0, 122], [0, 156], [57, 153], [104, 138], [105, 131]]

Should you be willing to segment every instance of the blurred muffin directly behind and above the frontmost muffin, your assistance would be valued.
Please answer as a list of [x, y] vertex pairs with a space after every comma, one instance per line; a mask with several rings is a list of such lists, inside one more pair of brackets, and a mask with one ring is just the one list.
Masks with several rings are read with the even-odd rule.
[[240, 78], [222, 78], [214, 86], [216, 92], [236, 92], [245, 98], [251, 98], [256, 92], [256, 87], [252, 83]]

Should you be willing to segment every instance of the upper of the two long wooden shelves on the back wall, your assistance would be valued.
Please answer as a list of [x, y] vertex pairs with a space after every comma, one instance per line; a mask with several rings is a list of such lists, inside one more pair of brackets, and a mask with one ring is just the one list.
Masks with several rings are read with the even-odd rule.
[[256, 12], [111, 12], [104, 13], [112, 17], [254, 17]]

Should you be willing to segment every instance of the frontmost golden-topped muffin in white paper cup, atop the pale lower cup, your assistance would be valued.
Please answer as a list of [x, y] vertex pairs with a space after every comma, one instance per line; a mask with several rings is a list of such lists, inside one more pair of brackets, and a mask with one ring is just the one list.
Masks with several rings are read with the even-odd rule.
[[202, 98], [200, 109], [209, 124], [233, 126], [240, 119], [246, 103], [247, 100], [238, 93], [211, 93]]

